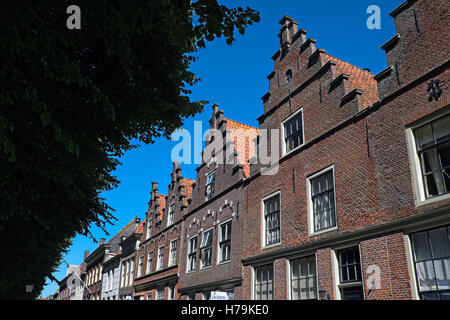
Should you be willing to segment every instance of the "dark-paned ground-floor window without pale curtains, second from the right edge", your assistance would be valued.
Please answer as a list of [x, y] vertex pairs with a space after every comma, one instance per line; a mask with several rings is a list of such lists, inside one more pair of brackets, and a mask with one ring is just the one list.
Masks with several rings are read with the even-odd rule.
[[338, 263], [342, 300], [364, 300], [359, 247], [339, 250]]

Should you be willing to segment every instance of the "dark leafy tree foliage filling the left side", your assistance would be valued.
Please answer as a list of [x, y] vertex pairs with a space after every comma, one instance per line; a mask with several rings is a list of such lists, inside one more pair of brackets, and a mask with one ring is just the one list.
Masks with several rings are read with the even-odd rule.
[[258, 21], [216, 0], [1, 1], [1, 299], [34, 298], [72, 237], [112, 223], [101, 192], [130, 141], [168, 137], [206, 103], [189, 98], [195, 51]]

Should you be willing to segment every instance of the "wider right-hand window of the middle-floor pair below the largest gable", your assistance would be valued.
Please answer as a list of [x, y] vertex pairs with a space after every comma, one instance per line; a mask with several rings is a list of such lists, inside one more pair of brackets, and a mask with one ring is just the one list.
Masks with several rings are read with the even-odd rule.
[[336, 226], [333, 170], [310, 180], [314, 232]]

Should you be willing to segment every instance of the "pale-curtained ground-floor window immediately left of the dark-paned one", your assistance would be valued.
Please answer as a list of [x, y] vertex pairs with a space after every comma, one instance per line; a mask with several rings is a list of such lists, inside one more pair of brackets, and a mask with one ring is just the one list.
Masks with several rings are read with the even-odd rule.
[[315, 256], [291, 261], [291, 290], [293, 300], [317, 299]]

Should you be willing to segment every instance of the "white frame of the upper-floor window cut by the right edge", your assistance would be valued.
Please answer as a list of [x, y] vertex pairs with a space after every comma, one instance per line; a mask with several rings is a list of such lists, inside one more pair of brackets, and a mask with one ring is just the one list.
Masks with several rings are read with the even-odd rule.
[[423, 206], [437, 201], [450, 199], [450, 193], [442, 194], [431, 198], [426, 198], [425, 186], [422, 178], [422, 168], [420, 166], [419, 155], [417, 154], [416, 137], [414, 136], [414, 130], [418, 127], [424, 126], [434, 120], [437, 120], [443, 116], [448, 115], [449, 110], [439, 110], [438, 112], [425, 116], [424, 118], [415, 121], [414, 123], [406, 127], [406, 140], [408, 145], [409, 163], [411, 168], [411, 176], [413, 181], [413, 189], [415, 195], [416, 206]]

